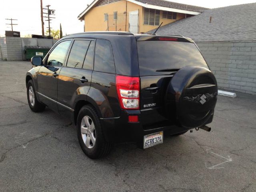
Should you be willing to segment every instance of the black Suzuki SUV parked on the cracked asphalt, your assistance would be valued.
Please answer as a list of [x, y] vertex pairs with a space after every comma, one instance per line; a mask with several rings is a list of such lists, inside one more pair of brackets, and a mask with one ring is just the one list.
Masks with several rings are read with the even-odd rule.
[[28, 104], [70, 117], [90, 158], [114, 142], [143, 148], [163, 134], [209, 130], [217, 83], [193, 40], [183, 36], [84, 32], [60, 39], [26, 74]]

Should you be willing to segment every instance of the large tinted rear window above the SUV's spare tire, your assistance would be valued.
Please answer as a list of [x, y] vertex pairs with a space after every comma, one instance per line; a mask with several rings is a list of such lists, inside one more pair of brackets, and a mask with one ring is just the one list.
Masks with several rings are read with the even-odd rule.
[[169, 69], [180, 69], [184, 66], [208, 68], [203, 56], [193, 43], [138, 41], [137, 48], [140, 76], [170, 74]]

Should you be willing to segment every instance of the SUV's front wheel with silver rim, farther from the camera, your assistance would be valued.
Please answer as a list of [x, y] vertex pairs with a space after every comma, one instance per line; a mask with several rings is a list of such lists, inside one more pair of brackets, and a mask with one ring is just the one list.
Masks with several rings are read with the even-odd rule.
[[28, 105], [33, 112], [41, 112], [45, 109], [45, 105], [41, 104], [36, 98], [36, 91], [32, 80], [27, 84]]

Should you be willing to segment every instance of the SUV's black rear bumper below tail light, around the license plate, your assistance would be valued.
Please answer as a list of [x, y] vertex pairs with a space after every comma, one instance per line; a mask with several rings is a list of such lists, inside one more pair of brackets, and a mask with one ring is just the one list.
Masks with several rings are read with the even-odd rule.
[[142, 123], [128, 122], [129, 115], [138, 115], [140, 120], [139, 110], [122, 110], [120, 117], [100, 119], [102, 130], [107, 141], [140, 142], [144, 135], [152, 134], [155, 132], [164, 131], [164, 133], [167, 134], [177, 134], [188, 130], [188, 128], [179, 127], [176, 125], [160, 126], [158, 128], [144, 130]]

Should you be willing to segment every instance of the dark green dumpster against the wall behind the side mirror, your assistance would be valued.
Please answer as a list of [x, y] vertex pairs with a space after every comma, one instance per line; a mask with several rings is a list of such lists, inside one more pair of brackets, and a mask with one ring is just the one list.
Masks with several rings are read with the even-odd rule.
[[44, 58], [48, 51], [50, 50], [50, 47], [38, 47], [38, 46], [25, 46], [24, 47], [24, 54], [26, 60], [30, 60], [32, 57], [39, 56]]

